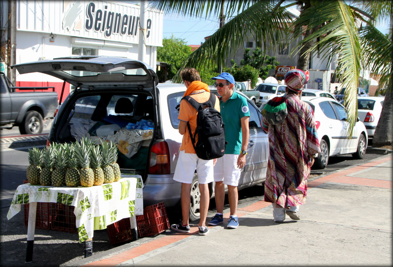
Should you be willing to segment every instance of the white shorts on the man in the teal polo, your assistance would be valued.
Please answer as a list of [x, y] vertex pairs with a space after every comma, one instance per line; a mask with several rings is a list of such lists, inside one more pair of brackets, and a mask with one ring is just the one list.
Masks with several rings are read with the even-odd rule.
[[217, 159], [214, 166], [214, 181], [223, 181], [225, 185], [233, 185], [237, 187], [240, 179], [241, 169], [237, 168], [237, 159], [239, 155], [224, 154]]

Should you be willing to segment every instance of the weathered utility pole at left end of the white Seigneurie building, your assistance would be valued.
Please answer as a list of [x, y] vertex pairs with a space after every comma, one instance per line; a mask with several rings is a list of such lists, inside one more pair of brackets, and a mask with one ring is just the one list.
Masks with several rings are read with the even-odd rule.
[[14, 0], [8, 0], [7, 44], [7, 77], [15, 84], [16, 70], [9, 67], [17, 64], [17, 4]]

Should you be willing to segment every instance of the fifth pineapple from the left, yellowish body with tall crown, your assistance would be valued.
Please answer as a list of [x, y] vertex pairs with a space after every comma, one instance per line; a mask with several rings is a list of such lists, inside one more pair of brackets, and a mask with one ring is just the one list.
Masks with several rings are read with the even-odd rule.
[[94, 172], [90, 168], [90, 150], [86, 146], [86, 139], [82, 139], [81, 143], [75, 143], [75, 157], [79, 164], [79, 179], [81, 186], [91, 187], [94, 184]]

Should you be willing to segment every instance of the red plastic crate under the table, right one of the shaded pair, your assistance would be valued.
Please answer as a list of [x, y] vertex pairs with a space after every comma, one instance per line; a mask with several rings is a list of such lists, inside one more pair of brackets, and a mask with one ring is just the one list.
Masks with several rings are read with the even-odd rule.
[[76, 217], [73, 213], [73, 206], [61, 203], [52, 203], [51, 229], [62, 232], [77, 233], [75, 222]]

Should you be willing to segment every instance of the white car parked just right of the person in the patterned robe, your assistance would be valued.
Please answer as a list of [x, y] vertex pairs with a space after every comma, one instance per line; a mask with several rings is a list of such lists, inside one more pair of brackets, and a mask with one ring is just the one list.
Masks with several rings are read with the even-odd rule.
[[325, 168], [329, 157], [352, 154], [362, 159], [367, 148], [367, 131], [362, 121], [357, 121], [352, 136], [349, 136], [349, 123], [345, 107], [327, 97], [316, 97], [305, 101], [314, 110], [321, 152], [315, 158], [316, 168]]

